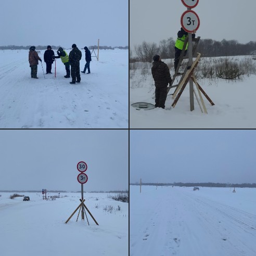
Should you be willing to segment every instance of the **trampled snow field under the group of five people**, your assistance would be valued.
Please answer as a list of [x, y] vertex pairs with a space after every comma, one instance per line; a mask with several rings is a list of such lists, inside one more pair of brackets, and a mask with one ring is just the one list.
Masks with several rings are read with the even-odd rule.
[[[46, 73], [44, 52], [39, 56]], [[82, 71], [85, 53], [81, 52]], [[56, 78], [55, 63], [53, 74], [44, 78], [39, 62], [39, 79], [32, 79], [28, 56], [29, 50], [0, 50], [1, 129], [128, 128], [128, 50], [100, 50], [99, 61], [92, 57], [91, 74], [81, 73], [81, 83], [75, 85], [63, 77], [66, 70], [60, 59], [56, 60]]]

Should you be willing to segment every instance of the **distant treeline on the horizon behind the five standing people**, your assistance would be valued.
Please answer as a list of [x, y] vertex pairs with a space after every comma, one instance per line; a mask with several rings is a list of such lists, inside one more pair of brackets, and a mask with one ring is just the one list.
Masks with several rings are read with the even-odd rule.
[[[1, 50], [20, 50], [20, 49], [24, 49], [24, 50], [27, 50], [31, 47], [31, 45], [29, 46], [17, 46], [17, 45], [7, 45], [7, 46], [0, 46], [0, 49]], [[58, 49], [59, 47], [62, 47], [63, 46], [55, 46], [55, 45], [51, 45], [52, 49]], [[129, 47], [128, 46], [115, 46], [115, 47], [112, 47], [112, 46], [99, 46], [99, 49], [115, 49], [115, 48], [118, 48], [118, 49], [128, 49]], [[37, 45], [35, 46], [35, 49], [36, 50], [45, 50], [47, 49], [47, 45]], [[69, 49], [72, 49], [71, 47]], [[84, 48], [81, 48], [81, 49], [84, 49]], [[98, 49], [98, 46], [97, 45], [92, 45], [92, 46], [89, 46], [88, 49], [92, 50], [92, 49]]]

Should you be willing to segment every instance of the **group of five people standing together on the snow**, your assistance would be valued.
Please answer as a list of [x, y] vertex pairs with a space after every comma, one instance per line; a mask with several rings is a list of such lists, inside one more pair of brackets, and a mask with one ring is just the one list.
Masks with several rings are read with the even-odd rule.
[[[85, 61], [86, 64], [84, 66], [84, 70], [81, 71], [81, 73], [85, 73], [86, 69], [88, 69], [87, 74], [91, 73], [90, 70], [90, 61], [92, 61], [91, 52], [90, 50], [85, 46]], [[47, 46], [47, 50], [44, 52], [44, 62], [46, 63], [46, 74], [52, 74], [52, 64], [55, 59], [61, 59], [62, 63], [65, 65], [65, 69], [67, 74], [64, 76], [65, 78], [71, 78], [72, 81], [70, 84], [75, 84], [81, 82], [81, 76], [80, 76], [80, 60], [82, 58], [81, 50], [79, 50], [78, 47], [76, 47], [76, 44], [72, 45], [72, 50], [67, 54], [66, 50], [64, 50], [62, 47], [59, 47], [57, 50], [57, 55], [54, 55], [54, 51], [52, 50], [52, 47], [50, 45]], [[35, 46], [31, 46], [29, 49], [29, 64], [31, 68], [31, 78], [37, 79], [37, 65], [39, 64], [39, 60], [42, 63], [42, 59], [39, 57], [37, 52], [35, 51]], [[71, 66], [71, 72], [70, 72], [70, 66]]]

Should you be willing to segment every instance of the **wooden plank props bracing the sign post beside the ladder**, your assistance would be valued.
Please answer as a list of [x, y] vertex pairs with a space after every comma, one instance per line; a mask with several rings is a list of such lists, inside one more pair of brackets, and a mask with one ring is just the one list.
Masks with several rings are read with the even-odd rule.
[[[199, 105], [201, 111], [203, 112], [203, 110], [204, 110], [204, 113], [207, 113], [206, 106], [204, 105], [204, 102], [203, 102], [202, 95], [201, 95], [200, 91], [209, 100], [210, 104], [212, 106], [214, 105], [214, 103], [210, 99], [210, 97], [206, 94], [206, 92], [203, 91], [201, 86], [197, 83], [195, 75], [194, 75], [194, 70], [196, 69], [196, 67], [198, 65], [200, 55], [201, 54], [198, 53], [196, 60], [193, 62], [192, 66], [189, 69], [186, 70], [186, 73], [184, 73], [183, 78], [181, 79], [180, 83], [178, 84], [177, 88], [175, 89], [175, 92], [173, 93], [173, 96], [172, 96], [172, 98], [174, 99], [173, 104], [172, 104], [173, 108], [177, 104], [178, 99], [180, 99], [180, 97], [181, 97], [189, 79], [191, 79], [196, 85], [200, 101], [199, 101], [199, 98], [198, 98], [195, 90], [194, 90], [194, 94], [196, 95], [196, 99], [197, 99], [197, 102], [198, 102], [198, 105]], [[202, 108], [203, 108], [203, 110], [202, 110]]]

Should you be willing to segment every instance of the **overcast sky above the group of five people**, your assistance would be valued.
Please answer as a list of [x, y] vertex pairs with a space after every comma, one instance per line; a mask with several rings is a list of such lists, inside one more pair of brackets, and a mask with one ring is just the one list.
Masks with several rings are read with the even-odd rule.
[[126, 46], [128, 0], [1, 1], [0, 46]]

